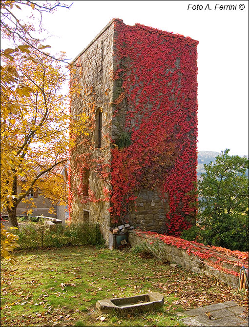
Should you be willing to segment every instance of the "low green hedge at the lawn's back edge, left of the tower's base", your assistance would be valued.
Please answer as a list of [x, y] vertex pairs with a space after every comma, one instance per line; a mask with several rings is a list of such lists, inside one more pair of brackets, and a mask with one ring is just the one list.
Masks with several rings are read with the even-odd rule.
[[97, 224], [56, 225], [54, 230], [50, 230], [48, 225], [29, 223], [18, 230], [17, 235], [21, 249], [69, 245], [104, 246], [104, 239]]

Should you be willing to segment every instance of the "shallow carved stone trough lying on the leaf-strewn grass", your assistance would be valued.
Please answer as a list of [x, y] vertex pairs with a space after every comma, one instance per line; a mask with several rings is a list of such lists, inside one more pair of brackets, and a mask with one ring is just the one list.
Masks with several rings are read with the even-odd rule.
[[163, 305], [164, 295], [158, 292], [126, 298], [99, 300], [96, 303], [96, 307], [101, 312], [115, 312], [119, 314], [154, 310]]

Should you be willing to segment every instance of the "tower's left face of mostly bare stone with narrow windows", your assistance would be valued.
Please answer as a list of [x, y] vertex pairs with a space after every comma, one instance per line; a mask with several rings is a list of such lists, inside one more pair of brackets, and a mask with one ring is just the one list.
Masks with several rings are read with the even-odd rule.
[[[110, 162], [110, 121], [112, 117], [113, 85], [113, 25], [108, 24], [99, 35], [73, 61], [79, 68], [71, 72], [78, 90], [71, 97], [71, 115], [73, 120], [82, 113], [87, 115], [86, 129], [89, 135], [78, 136], [76, 146], [71, 149], [70, 161], [70, 218], [74, 223], [99, 223], [104, 237], [109, 234], [109, 202], [104, 201], [104, 187], [108, 187], [100, 178], [102, 166]], [[75, 85], [74, 85], [75, 86]], [[102, 146], [96, 147], [96, 113], [102, 111]], [[100, 164], [101, 163], [101, 164]], [[80, 193], [84, 181], [82, 168], [89, 170], [88, 195]], [[83, 180], [82, 180], [83, 179]], [[106, 237], [105, 237], [106, 238]]]

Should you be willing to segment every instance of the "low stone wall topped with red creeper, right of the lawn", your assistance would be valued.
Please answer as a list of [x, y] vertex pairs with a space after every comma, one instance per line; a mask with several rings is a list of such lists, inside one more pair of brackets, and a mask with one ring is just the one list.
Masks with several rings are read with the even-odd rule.
[[205, 246], [152, 232], [129, 232], [129, 243], [132, 247], [143, 242], [152, 244], [155, 241], [162, 243], [161, 259], [197, 273], [214, 276], [235, 288], [238, 287], [240, 269], [242, 266], [248, 268], [248, 252]]

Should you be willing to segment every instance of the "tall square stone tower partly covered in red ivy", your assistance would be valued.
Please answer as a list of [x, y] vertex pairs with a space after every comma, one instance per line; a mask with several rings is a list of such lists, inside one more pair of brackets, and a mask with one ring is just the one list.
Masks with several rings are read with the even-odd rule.
[[178, 236], [195, 220], [197, 44], [110, 21], [71, 70], [69, 214]]

